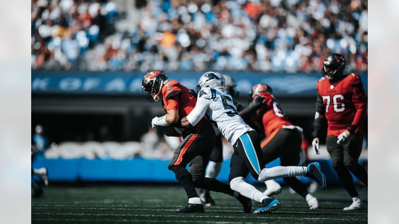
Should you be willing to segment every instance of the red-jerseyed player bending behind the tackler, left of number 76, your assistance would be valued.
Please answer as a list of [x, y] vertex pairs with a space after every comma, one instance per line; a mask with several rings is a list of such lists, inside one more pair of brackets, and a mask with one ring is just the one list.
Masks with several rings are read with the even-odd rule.
[[[261, 141], [265, 164], [280, 158], [282, 166], [298, 165], [301, 154], [302, 128], [294, 126], [288, 121], [272, 93], [272, 88], [263, 83], [256, 84], [251, 91], [253, 99], [257, 96], [265, 99], [261, 108], [252, 114], [253, 122], [258, 124], [266, 136]], [[305, 185], [296, 177], [285, 177], [283, 180], [308, 202], [310, 209], [318, 208], [317, 199], [309, 194]]]

